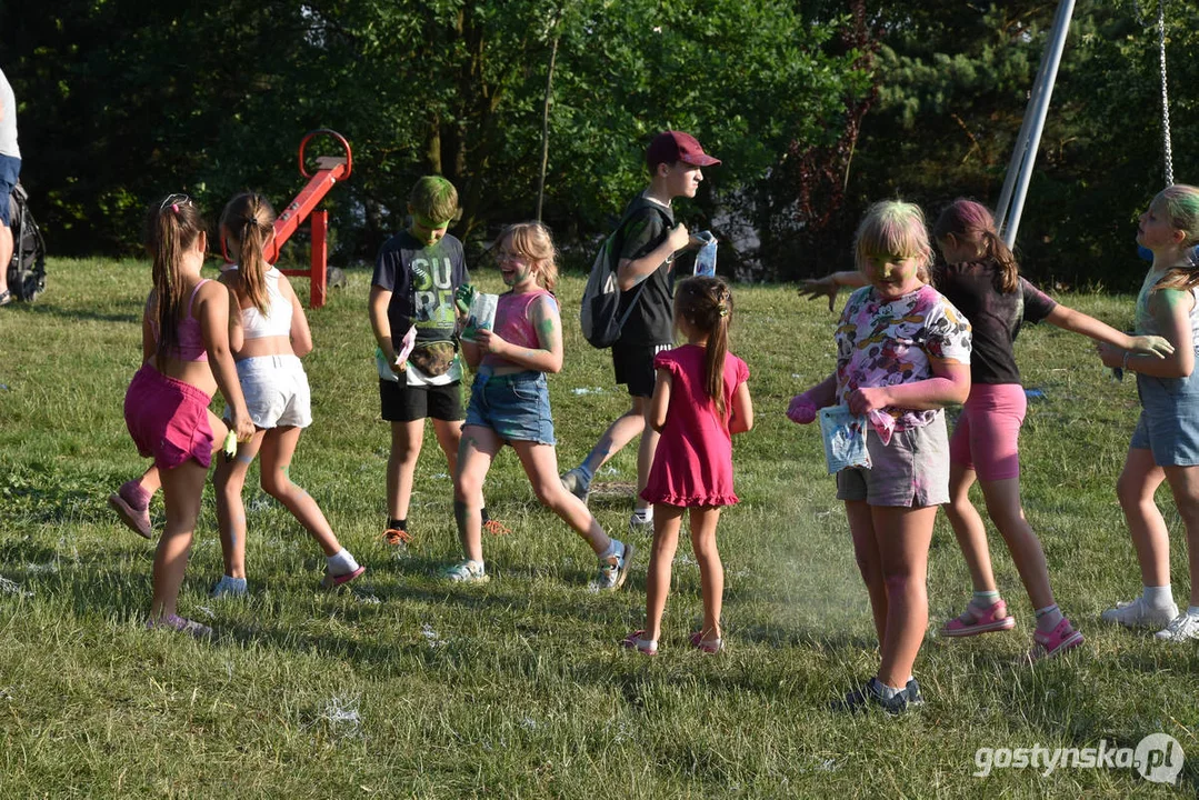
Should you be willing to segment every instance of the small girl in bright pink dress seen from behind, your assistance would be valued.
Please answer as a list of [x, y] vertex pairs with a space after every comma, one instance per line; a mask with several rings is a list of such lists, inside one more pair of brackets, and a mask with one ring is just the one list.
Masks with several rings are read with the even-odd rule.
[[657, 380], [650, 403], [650, 425], [659, 432], [641, 497], [653, 504], [653, 553], [646, 577], [647, 627], [625, 638], [626, 648], [657, 655], [662, 613], [670, 591], [670, 565], [679, 546], [685, 510], [691, 510], [691, 541], [699, 561], [704, 624], [691, 637], [703, 652], [724, 649], [721, 602], [724, 567], [716, 549], [721, 506], [737, 501], [733, 493], [733, 438], [753, 427], [749, 369], [728, 353], [733, 295], [715, 277], [687, 278], [675, 289], [675, 327], [687, 344], [653, 359]]

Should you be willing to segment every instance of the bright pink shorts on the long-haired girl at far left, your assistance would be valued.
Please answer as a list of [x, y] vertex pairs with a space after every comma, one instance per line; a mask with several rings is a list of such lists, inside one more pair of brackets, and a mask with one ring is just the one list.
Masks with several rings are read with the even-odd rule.
[[143, 457], [153, 456], [158, 469], [174, 469], [194, 458], [212, 463], [212, 398], [191, 384], [141, 365], [125, 392], [125, 425]]

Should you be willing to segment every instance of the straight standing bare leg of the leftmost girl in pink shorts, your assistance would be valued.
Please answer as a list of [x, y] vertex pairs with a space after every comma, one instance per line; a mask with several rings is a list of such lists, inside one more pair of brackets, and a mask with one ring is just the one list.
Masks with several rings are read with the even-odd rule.
[[[224, 433], [218, 437], [221, 438], [224, 438]], [[162, 619], [175, 613], [207, 475], [209, 470], [193, 459], [162, 473], [167, 525], [158, 539], [158, 548], [153, 557], [151, 619]]]

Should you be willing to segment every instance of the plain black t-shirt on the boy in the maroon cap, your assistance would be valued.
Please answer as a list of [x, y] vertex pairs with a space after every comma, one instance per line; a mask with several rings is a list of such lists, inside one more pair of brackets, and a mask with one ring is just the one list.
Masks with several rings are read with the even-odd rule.
[[[625, 210], [625, 224], [616, 241], [617, 259], [635, 260], [662, 243], [674, 228], [674, 211], [638, 194]], [[633, 313], [620, 330], [617, 344], [671, 344], [674, 342], [674, 270], [673, 257], [645, 278], [645, 289]], [[616, 264], [620, 264], [617, 260]], [[637, 296], [640, 283], [620, 294], [617, 318]]]

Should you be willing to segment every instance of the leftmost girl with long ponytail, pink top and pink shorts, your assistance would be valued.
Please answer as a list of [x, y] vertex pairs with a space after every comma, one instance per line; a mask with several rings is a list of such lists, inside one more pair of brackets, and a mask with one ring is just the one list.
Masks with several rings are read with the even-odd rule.
[[229, 290], [200, 277], [207, 234], [186, 194], [150, 207], [147, 248], [153, 289], [141, 320], [144, 363], [125, 395], [125, 423], [143, 456], [162, 476], [167, 525], [153, 559], [149, 627], [207, 638], [212, 630], [175, 613], [187, 567], [200, 495], [212, 453], [229, 428], [209, 411], [219, 389], [230, 427], [249, 439], [254, 425], [229, 353]]

